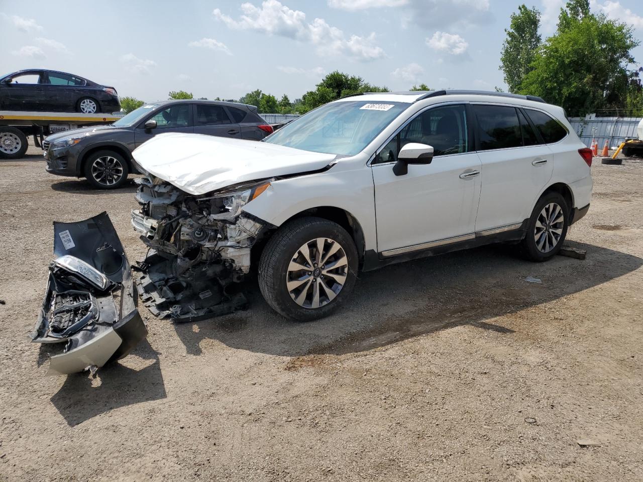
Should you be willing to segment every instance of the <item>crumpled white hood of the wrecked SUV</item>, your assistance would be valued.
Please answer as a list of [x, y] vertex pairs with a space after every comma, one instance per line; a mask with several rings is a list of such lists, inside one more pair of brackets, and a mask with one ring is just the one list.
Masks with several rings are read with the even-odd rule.
[[132, 153], [140, 168], [192, 195], [325, 168], [337, 156], [266, 142], [168, 132]]

